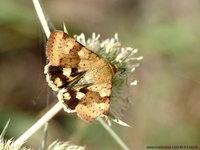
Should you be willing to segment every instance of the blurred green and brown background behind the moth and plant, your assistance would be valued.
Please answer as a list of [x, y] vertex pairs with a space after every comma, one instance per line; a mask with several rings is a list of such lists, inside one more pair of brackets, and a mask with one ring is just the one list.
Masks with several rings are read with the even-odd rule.
[[[65, 22], [71, 35], [96, 32], [102, 39], [117, 32], [124, 46], [144, 56], [130, 75], [138, 85], [127, 87], [132, 105], [122, 120], [132, 128], [113, 124], [131, 150], [200, 148], [200, 1], [49, 0], [43, 6], [57, 29]], [[46, 96], [44, 39], [31, 1], [0, 1], [0, 129], [11, 119], [6, 138], [19, 137], [56, 101]], [[38, 148], [42, 134], [26, 145]], [[56, 139], [87, 150], [120, 150], [98, 122], [64, 112], [50, 121], [48, 143]]]

